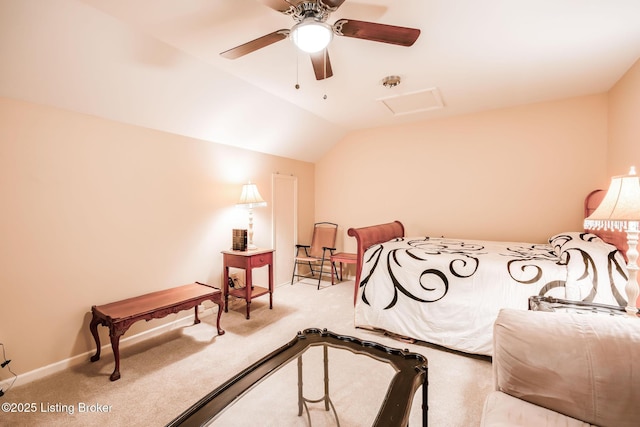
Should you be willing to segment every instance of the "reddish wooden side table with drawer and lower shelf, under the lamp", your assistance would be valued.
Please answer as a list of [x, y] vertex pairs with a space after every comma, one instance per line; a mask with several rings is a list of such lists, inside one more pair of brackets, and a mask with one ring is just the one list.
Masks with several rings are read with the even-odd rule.
[[[269, 308], [273, 308], [273, 249], [252, 249], [247, 251], [222, 251], [224, 263], [223, 293], [224, 311], [229, 311], [229, 295], [243, 298], [247, 302], [247, 319], [251, 315], [251, 300], [261, 295], [269, 294]], [[253, 284], [252, 270], [269, 266], [268, 288]], [[246, 283], [241, 289], [229, 289], [229, 268], [242, 268], [245, 271]]]

